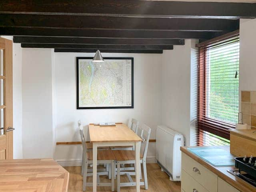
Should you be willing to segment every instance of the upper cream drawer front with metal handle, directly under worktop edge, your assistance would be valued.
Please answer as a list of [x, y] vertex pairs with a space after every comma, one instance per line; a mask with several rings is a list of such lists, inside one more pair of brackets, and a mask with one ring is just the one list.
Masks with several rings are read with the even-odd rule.
[[184, 153], [182, 153], [182, 169], [208, 191], [217, 192], [218, 176]]

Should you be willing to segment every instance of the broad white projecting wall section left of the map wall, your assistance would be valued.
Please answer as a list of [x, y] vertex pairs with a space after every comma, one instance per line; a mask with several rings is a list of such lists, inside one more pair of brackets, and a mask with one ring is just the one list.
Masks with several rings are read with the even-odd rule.
[[52, 157], [52, 137], [52, 50], [23, 48], [23, 158]]

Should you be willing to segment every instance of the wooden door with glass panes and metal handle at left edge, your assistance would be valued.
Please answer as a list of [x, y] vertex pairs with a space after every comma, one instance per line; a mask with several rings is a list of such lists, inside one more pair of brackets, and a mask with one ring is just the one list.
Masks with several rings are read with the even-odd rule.
[[12, 41], [0, 38], [0, 160], [13, 159]]

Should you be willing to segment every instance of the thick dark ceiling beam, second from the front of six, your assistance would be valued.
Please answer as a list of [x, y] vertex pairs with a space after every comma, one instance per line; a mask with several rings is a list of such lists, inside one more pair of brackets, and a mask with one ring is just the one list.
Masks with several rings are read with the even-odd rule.
[[0, 14], [2, 27], [170, 31], [232, 31], [239, 20]]

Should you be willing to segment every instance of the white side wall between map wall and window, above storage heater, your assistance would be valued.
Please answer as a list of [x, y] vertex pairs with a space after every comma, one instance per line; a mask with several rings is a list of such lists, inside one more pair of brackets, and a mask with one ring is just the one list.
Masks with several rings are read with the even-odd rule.
[[184, 46], [165, 50], [162, 63], [162, 124], [181, 132], [190, 145], [190, 67], [191, 48], [195, 40]]

